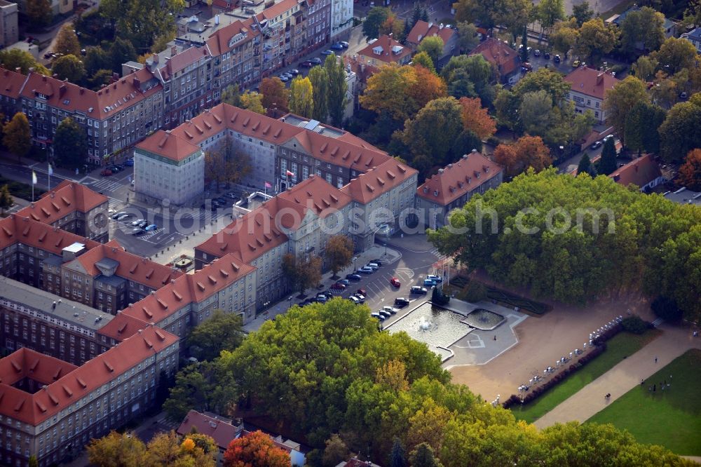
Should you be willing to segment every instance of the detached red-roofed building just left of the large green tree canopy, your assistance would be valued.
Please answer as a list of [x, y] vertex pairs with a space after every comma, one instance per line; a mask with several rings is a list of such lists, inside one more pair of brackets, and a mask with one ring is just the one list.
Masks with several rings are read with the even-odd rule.
[[424, 228], [444, 226], [451, 210], [462, 208], [473, 195], [496, 188], [502, 181], [501, 167], [475, 149], [438, 169], [416, 189], [416, 208], [423, 215]]

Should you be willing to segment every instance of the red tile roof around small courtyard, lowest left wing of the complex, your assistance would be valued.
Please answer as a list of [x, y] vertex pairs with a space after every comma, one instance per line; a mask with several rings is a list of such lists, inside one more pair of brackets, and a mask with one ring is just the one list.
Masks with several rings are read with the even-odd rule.
[[[2, 401], [0, 414], [36, 426], [84, 398], [103, 384], [116, 379], [118, 375], [135, 367], [146, 358], [175, 344], [177, 340], [178, 337], [170, 332], [149, 326], [125, 339], [118, 346], [114, 346], [93, 360], [89, 360], [81, 367], [76, 368], [74, 365], [63, 363], [62, 365], [69, 366], [62, 366], [62, 368], [71, 371], [67, 373], [62, 371], [57, 374], [57, 378], [52, 376], [53, 382], [34, 394], [20, 391], [4, 382], [0, 383], [0, 400]], [[20, 349], [6, 358], [13, 359], [15, 358], [13, 356], [18, 352], [27, 352], [27, 350]], [[29, 352], [31, 360], [36, 353]], [[6, 358], [0, 361], [4, 361]], [[43, 367], [44, 363], [51, 365], [55, 363], [55, 360], [55, 358], [41, 355], [36, 368]], [[55, 366], [53, 366], [53, 371], [57, 371]]]

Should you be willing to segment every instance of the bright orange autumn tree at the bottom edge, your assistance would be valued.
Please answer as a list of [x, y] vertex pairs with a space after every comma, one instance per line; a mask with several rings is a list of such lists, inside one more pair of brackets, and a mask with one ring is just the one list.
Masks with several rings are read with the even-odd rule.
[[290, 467], [290, 454], [275, 446], [270, 436], [254, 431], [229, 443], [224, 467]]

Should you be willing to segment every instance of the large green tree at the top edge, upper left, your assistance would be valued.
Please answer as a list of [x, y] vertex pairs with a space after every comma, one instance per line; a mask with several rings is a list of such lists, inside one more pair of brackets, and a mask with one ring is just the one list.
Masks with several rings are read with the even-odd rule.
[[102, 0], [100, 13], [116, 25], [119, 36], [128, 37], [139, 50], [148, 50], [158, 36], [173, 34], [183, 0]]

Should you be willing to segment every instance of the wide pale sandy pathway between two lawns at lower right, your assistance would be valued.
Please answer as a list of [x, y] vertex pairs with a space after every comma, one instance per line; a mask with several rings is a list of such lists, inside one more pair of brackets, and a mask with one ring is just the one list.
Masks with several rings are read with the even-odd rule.
[[[545, 428], [556, 423], [587, 421], [594, 414], [604, 410], [608, 404], [640, 384], [641, 378], [647, 381], [648, 377], [688, 349], [701, 348], [701, 337], [692, 337], [688, 329], [667, 323], [660, 325], [659, 329], [662, 330], [660, 337], [622, 360], [533, 424], [538, 428]], [[658, 358], [657, 363], [655, 363], [655, 357]], [[673, 377], [674, 375], [672, 375], [672, 391], [674, 391]], [[651, 384], [659, 382], [651, 381]], [[611, 393], [610, 400], [604, 398], [606, 393]]]

